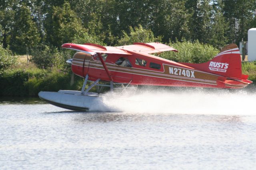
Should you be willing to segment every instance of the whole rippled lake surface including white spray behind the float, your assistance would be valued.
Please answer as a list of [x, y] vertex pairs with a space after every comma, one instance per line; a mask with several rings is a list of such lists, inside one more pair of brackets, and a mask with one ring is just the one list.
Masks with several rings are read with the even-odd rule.
[[0, 99], [0, 169], [256, 167], [254, 89], [106, 94], [102, 104], [73, 112]]

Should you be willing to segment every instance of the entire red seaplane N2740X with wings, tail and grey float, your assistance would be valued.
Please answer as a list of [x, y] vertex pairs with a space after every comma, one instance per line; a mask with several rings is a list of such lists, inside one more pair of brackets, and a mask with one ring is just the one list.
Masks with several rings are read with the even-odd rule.
[[[104, 87], [110, 87], [111, 92], [118, 88], [122, 94], [130, 85], [237, 89], [252, 83], [248, 75], [242, 74], [236, 44], [226, 45], [206, 63], [178, 63], [150, 55], [163, 51], [178, 52], [158, 42], [119, 47], [64, 43], [62, 48], [78, 51], [66, 63], [71, 65], [75, 75], [84, 78], [82, 90], [41, 91], [38, 96], [52, 105], [75, 111], [90, 111], [95, 103], [100, 102]], [[97, 93], [91, 92], [94, 86]]]

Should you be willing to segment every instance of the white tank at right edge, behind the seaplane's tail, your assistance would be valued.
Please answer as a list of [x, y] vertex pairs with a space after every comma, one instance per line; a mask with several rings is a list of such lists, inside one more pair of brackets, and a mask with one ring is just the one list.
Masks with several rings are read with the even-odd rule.
[[248, 30], [248, 61], [256, 61], [256, 28]]

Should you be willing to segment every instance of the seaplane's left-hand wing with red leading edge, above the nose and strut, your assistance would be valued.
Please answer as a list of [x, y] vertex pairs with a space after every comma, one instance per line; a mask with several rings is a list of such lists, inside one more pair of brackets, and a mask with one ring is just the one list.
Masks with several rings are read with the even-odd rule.
[[102, 45], [93, 44], [93, 43], [84, 43], [84, 44], [75, 44], [75, 43], [64, 43], [62, 48], [74, 49], [76, 51], [81, 51], [84, 53], [88, 53], [90, 55], [94, 55], [95, 53], [113, 53], [113, 54], [127, 54], [125, 49], [120, 49], [117, 47], [104, 47]]

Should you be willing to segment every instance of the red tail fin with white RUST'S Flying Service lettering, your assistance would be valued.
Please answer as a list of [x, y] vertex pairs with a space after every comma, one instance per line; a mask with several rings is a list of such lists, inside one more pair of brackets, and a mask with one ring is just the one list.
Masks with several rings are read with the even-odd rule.
[[232, 79], [247, 79], [242, 75], [240, 52], [236, 44], [226, 45], [212, 60], [201, 64], [182, 63], [196, 69]]

